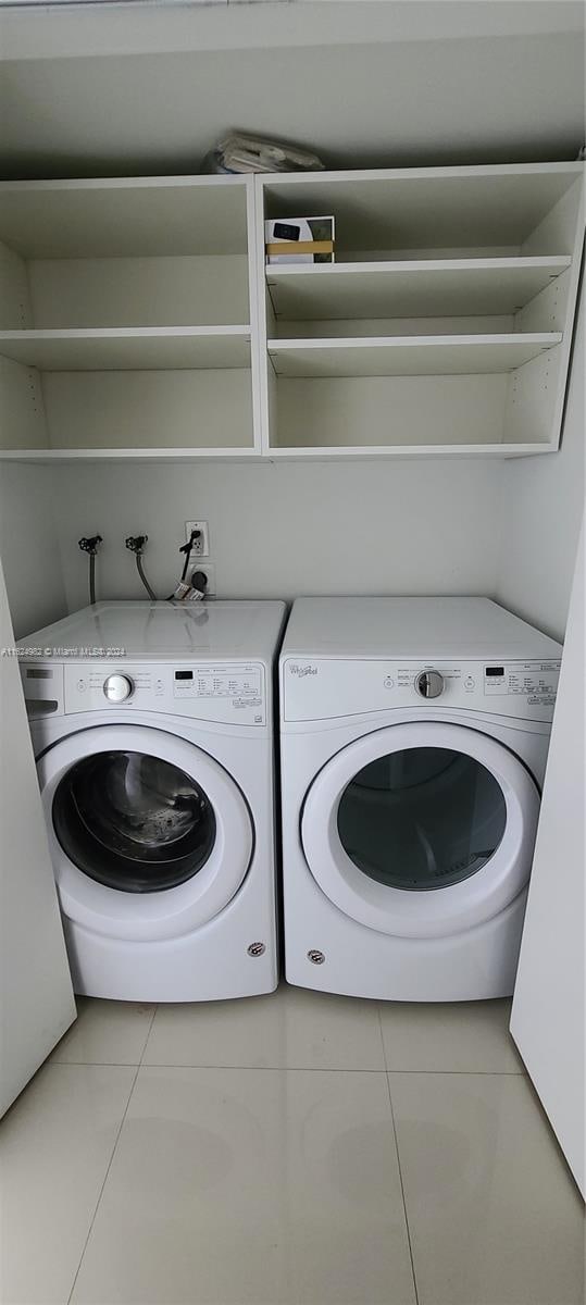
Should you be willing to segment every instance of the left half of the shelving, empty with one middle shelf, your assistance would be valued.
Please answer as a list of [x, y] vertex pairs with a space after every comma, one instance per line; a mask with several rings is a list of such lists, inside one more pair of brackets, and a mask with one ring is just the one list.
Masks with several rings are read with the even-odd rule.
[[7, 457], [260, 453], [247, 177], [0, 185]]

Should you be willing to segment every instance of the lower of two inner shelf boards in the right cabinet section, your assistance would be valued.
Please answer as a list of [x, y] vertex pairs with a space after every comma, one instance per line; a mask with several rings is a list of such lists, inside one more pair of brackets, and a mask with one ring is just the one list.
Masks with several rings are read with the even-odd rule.
[[384, 335], [270, 339], [277, 376], [459, 376], [512, 372], [561, 342], [557, 331], [513, 335]]

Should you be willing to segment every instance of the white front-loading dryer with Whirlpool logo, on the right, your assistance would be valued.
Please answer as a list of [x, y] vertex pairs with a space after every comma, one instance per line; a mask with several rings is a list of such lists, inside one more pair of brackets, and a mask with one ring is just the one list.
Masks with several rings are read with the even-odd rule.
[[279, 662], [288, 983], [512, 993], [560, 655], [482, 598], [294, 604]]

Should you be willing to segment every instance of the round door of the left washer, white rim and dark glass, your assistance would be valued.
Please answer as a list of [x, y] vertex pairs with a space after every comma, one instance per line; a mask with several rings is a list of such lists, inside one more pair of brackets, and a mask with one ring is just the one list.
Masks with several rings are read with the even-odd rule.
[[97, 726], [38, 762], [64, 914], [108, 938], [180, 937], [218, 915], [251, 864], [248, 805], [201, 748]]

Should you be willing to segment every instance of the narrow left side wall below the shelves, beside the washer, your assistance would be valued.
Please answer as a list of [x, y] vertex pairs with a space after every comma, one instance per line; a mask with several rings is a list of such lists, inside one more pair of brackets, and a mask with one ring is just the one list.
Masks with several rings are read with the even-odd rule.
[[0, 463], [0, 556], [16, 638], [67, 612], [55, 483], [54, 467]]

